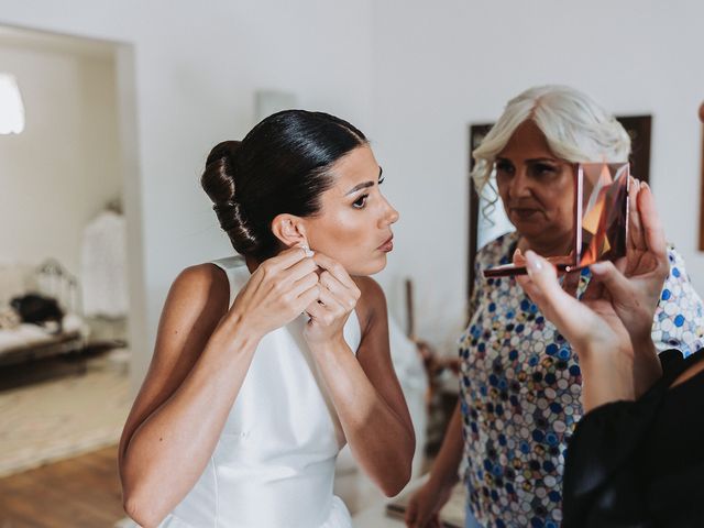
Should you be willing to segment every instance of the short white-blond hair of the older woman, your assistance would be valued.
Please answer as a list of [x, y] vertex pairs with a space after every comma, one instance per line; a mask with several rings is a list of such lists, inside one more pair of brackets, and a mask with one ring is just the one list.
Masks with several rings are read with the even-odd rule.
[[532, 120], [552, 153], [570, 163], [627, 162], [630, 138], [616, 119], [591, 97], [568, 86], [529, 88], [506, 105], [504, 113], [472, 156], [472, 179], [482, 196], [490, 183], [496, 156], [516, 129]]

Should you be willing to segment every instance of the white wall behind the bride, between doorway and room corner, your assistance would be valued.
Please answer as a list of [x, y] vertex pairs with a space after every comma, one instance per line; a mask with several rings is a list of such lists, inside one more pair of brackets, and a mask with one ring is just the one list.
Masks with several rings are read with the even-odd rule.
[[[132, 338], [135, 383], [146, 370], [176, 274], [231, 251], [198, 185], [209, 148], [254, 124], [254, 91], [263, 88], [292, 91], [301, 107], [337, 113], [365, 130], [370, 18], [371, 0], [0, 0], [0, 23], [133, 44], [135, 91], [122, 100], [133, 96], [138, 110], [133, 146], [142, 177], [139, 189], [127, 189], [135, 205], [128, 221], [132, 244], [144, 250], [142, 262], [132, 263], [132, 286], [142, 288], [146, 302], [144, 321], [136, 321], [145, 331]], [[136, 180], [134, 158], [128, 167], [130, 182]], [[140, 299], [132, 295], [131, 302], [139, 314]]]

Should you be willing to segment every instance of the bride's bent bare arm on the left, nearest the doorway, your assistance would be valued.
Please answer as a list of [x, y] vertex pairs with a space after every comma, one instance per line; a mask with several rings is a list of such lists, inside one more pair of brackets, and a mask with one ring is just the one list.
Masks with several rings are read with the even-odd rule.
[[202, 473], [256, 346], [240, 321], [218, 327], [228, 282], [211, 267], [174, 283], [120, 442], [124, 508], [144, 527], [161, 522]]

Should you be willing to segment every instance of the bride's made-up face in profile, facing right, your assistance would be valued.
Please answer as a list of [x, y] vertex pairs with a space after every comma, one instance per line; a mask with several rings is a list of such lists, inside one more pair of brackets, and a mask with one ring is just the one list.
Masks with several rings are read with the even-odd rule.
[[350, 275], [371, 275], [386, 266], [394, 249], [392, 223], [398, 212], [381, 193], [382, 168], [362, 145], [331, 168], [334, 185], [320, 196], [319, 215], [305, 219], [308, 244], [338, 261]]

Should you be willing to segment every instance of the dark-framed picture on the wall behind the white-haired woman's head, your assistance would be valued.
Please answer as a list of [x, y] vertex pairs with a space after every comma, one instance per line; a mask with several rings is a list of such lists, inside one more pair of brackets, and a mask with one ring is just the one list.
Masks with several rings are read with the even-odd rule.
[[[629, 156], [631, 174], [641, 182], [650, 182], [650, 139], [652, 130], [652, 116], [620, 116], [616, 119], [624, 125], [626, 132], [630, 136], [631, 154]], [[482, 141], [492, 130], [494, 123], [471, 123], [469, 125], [469, 174], [474, 169], [474, 158], [472, 152], [480, 146]], [[704, 166], [704, 153], [702, 160]], [[702, 176], [703, 188], [703, 210], [704, 210], [704, 168]], [[470, 206], [470, 226], [469, 226], [469, 251], [468, 251], [468, 286], [466, 298], [472, 297], [472, 289], [476, 278], [474, 272], [474, 261], [477, 251], [490, 240], [513, 230], [504, 208], [497, 196], [493, 196], [492, 189], [486, 190], [487, 195], [480, 197], [474, 188], [474, 182], [470, 176], [469, 182], [469, 206]], [[490, 202], [497, 200], [494, 205]], [[484, 216], [480, 216], [481, 211]], [[491, 232], [488, 232], [491, 231]], [[702, 215], [702, 233], [704, 233], [704, 213]], [[704, 234], [702, 242], [704, 249]], [[470, 315], [471, 316], [471, 315]]]

